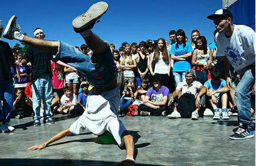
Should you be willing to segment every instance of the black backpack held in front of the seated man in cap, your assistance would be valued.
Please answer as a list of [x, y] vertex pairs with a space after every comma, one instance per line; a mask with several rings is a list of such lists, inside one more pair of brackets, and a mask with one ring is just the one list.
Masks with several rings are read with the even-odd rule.
[[195, 95], [186, 92], [179, 98], [177, 110], [183, 118], [191, 118], [195, 108]]

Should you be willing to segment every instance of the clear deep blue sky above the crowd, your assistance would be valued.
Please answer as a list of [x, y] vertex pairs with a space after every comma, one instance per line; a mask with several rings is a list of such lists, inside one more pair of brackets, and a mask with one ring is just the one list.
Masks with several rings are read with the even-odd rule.
[[[21, 32], [33, 37], [35, 28], [42, 28], [45, 40], [61, 40], [72, 46], [80, 46], [85, 41], [72, 27], [74, 18], [83, 14], [90, 5], [98, 1], [90, 0], [43, 0], [43, 1], [5, 1], [1, 3], [0, 20], [2, 26], [8, 23], [12, 15], [17, 16]], [[191, 31], [198, 29], [201, 36], [213, 41], [215, 30], [213, 21], [207, 15], [214, 14], [222, 7], [221, 0], [130, 0], [106, 1], [108, 11], [100, 22], [95, 24], [93, 32], [102, 40], [114, 43], [116, 49], [123, 41], [139, 43], [142, 40], [168, 39], [170, 30], [183, 29], [191, 38]], [[11, 47], [17, 40], [7, 41]]]

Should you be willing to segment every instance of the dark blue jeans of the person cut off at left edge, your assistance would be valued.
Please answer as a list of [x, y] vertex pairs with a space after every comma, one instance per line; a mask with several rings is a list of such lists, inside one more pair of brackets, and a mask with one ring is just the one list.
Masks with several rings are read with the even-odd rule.
[[13, 94], [13, 82], [8, 80], [0, 81], [0, 102], [3, 101], [3, 104], [0, 103], [0, 122], [3, 124], [10, 122]]

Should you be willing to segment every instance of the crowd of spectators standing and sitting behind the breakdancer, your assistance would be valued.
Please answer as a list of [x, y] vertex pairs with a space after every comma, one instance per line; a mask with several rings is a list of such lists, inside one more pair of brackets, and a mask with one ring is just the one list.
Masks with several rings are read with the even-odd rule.
[[[40, 28], [34, 34], [38, 39], [45, 37]], [[182, 29], [171, 30], [168, 36], [170, 42], [163, 38], [139, 44], [124, 41], [118, 50], [110, 44], [118, 71], [120, 116], [192, 120], [202, 116], [228, 120], [229, 116], [236, 116], [234, 95], [240, 76], [232, 70], [233, 89], [227, 88], [223, 60], [216, 58], [214, 42], [207, 43], [198, 30], [193, 30], [190, 37]], [[86, 44], [74, 49], [85, 56], [92, 55]], [[54, 114], [83, 113], [93, 87], [82, 73], [73, 66], [52, 61], [52, 52], [28, 47], [23, 55], [18, 46], [11, 51], [16, 64], [11, 67], [15, 87], [11, 117], [32, 116], [34, 126], [40, 126], [40, 117], [46, 123], [54, 123]], [[251, 97], [254, 115], [255, 94]]]

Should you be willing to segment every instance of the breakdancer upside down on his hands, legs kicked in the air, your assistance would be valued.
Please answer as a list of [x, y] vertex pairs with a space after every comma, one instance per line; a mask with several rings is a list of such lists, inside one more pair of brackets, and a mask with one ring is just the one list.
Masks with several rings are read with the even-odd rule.
[[118, 145], [121, 146], [124, 143], [126, 146], [126, 159], [120, 165], [135, 165], [133, 136], [127, 132], [118, 118], [120, 91], [117, 86], [117, 68], [114, 65], [114, 57], [107, 41], [101, 40], [90, 30], [107, 9], [106, 2], [98, 2], [93, 4], [85, 14], [73, 20], [74, 31], [83, 37], [93, 51], [92, 57], [85, 56], [75, 47], [62, 41], [39, 40], [24, 36], [17, 28], [15, 16], [10, 19], [10, 25], [5, 28], [3, 37], [21, 40], [42, 50], [55, 52], [55, 61], [63, 60], [64, 63], [79, 69], [86, 76], [89, 84], [93, 85], [82, 116], [67, 129], [40, 145], [32, 146], [30, 150], [46, 148], [49, 143], [64, 138], [70, 133], [80, 134], [90, 131], [95, 135], [102, 135], [108, 131]]

